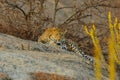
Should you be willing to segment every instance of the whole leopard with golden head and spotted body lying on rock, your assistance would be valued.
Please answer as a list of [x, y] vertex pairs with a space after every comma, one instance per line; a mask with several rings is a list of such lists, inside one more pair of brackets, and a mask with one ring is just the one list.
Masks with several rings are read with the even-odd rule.
[[87, 64], [94, 64], [94, 58], [90, 55], [85, 54], [77, 44], [65, 38], [66, 30], [63, 30], [58, 27], [50, 27], [45, 30], [45, 32], [39, 36], [38, 42], [42, 42], [45, 44], [50, 44], [54, 46], [59, 46], [62, 49], [67, 51], [72, 51], [75, 55], [80, 56], [83, 61]]

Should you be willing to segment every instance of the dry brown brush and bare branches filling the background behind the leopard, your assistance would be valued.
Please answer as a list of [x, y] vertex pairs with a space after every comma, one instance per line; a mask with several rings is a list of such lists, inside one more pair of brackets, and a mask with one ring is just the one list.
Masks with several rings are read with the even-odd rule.
[[46, 27], [54, 25], [66, 29], [67, 38], [92, 54], [93, 44], [83, 25], [94, 23], [101, 45], [107, 45], [107, 12], [119, 18], [119, 4], [119, 0], [1, 0], [0, 32], [36, 41]]

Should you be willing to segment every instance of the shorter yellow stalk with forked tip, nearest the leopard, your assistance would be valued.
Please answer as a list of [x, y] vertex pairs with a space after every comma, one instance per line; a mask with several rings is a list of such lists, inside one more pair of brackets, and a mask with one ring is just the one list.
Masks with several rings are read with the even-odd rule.
[[99, 40], [96, 36], [96, 29], [95, 29], [95, 25], [92, 26], [91, 30], [88, 31], [87, 26], [85, 26], [85, 31], [87, 34], [90, 35], [93, 44], [95, 46], [95, 73], [96, 73], [96, 80], [101, 80], [102, 78], [102, 73], [101, 73], [101, 61], [100, 61], [100, 57], [101, 57], [101, 47], [99, 44]]

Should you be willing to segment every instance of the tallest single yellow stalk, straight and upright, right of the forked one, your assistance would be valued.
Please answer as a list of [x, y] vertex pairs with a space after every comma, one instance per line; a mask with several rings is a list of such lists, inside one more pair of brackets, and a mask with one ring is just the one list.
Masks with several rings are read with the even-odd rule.
[[115, 34], [114, 34], [114, 25], [112, 25], [111, 13], [108, 14], [109, 28], [110, 28], [110, 39], [109, 39], [109, 72], [110, 79], [115, 80]]

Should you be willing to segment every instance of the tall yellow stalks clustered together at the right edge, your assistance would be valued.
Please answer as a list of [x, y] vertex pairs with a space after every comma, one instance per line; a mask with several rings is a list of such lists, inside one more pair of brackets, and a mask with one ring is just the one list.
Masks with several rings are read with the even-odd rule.
[[111, 13], [108, 13], [108, 21], [109, 21], [109, 28], [110, 28], [110, 39], [109, 39], [109, 72], [110, 72], [110, 80], [115, 80], [116, 78], [116, 63], [120, 63], [119, 61], [119, 52], [120, 52], [120, 45], [119, 43], [119, 24], [118, 19], [115, 18], [115, 22], [112, 25], [112, 18]]

